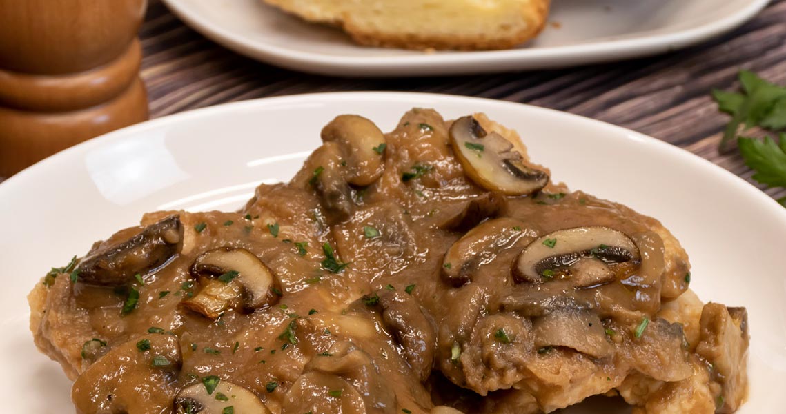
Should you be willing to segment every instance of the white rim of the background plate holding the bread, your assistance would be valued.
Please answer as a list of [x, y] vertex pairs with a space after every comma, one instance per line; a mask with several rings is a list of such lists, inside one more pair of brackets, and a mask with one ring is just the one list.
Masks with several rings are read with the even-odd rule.
[[[674, 51], [722, 35], [751, 20], [770, 2], [770, 0], [751, 0], [739, 12], [712, 20], [707, 24], [641, 38], [547, 48], [357, 57], [303, 52], [277, 46], [274, 43], [262, 43], [263, 46], [259, 47], [258, 43], [248, 40], [243, 35], [237, 35], [230, 29], [211, 24], [209, 19], [190, 13], [188, 3], [192, 1], [162, 0], [164, 5], [167, 5], [167, 8], [187, 26], [234, 52], [296, 71], [343, 77], [492, 73], [566, 68], [577, 64], [628, 60]], [[620, 55], [624, 57], [620, 58]], [[477, 66], [476, 64], [479, 63], [486, 65]]]

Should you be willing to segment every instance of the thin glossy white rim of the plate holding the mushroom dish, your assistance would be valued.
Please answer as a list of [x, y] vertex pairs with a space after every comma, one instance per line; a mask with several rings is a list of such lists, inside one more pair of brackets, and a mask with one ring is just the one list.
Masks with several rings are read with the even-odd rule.
[[[755, 197], [761, 202], [763, 205], [768, 205], [769, 209], [778, 211], [776, 214], [777, 217], [780, 217], [783, 220], [783, 224], [786, 225], [786, 209], [782, 207], [776, 200], [774, 200], [771, 196], [767, 195], [762, 190], [752, 185], [750, 182], [744, 180], [740, 176], [733, 174], [731, 171], [726, 170], [725, 168], [719, 166], [718, 164], [712, 163], [708, 159], [704, 159], [701, 156], [698, 156], [688, 150], [683, 148], [679, 148], [676, 145], [672, 145], [667, 141], [659, 140], [656, 137], [651, 137], [647, 134], [643, 134], [641, 132], [630, 130], [623, 126], [618, 126], [612, 123], [607, 123], [598, 119], [589, 118], [584, 115], [577, 115], [571, 112], [564, 112], [557, 109], [552, 108], [544, 108], [532, 104], [523, 104], [520, 102], [512, 102], [512, 101], [500, 101], [496, 99], [486, 98], [486, 97], [467, 97], [463, 95], [454, 95], [449, 93], [424, 93], [424, 92], [389, 92], [389, 91], [351, 91], [351, 92], [322, 92], [322, 93], [299, 93], [299, 94], [292, 94], [292, 95], [284, 95], [279, 97], [261, 97], [256, 99], [251, 99], [247, 101], [235, 101], [229, 102], [226, 104], [218, 104], [212, 105], [204, 108], [196, 108], [191, 109], [189, 111], [178, 112], [172, 115], [162, 116], [160, 118], [149, 119], [147, 121], [137, 123], [131, 126], [126, 126], [119, 130], [114, 130], [107, 134], [100, 135], [98, 137], [90, 138], [87, 141], [83, 141], [77, 145], [74, 145], [70, 148], [66, 148], [61, 152], [57, 152], [53, 156], [49, 156], [46, 159], [42, 159], [38, 163], [33, 164], [32, 166], [25, 168], [24, 170], [20, 171], [19, 173], [9, 177], [6, 181], [0, 182], [0, 197], [2, 197], [6, 192], [13, 192], [13, 188], [24, 185], [24, 182], [27, 180], [33, 179], [32, 177], [37, 174], [45, 173], [50, 166], [53, 166], [55, 163], [59, 163], [68, 157], [75, 156], [79, 152], [85, 152], [87, 149], [92, 148], [96, 145], [106, 144], [111, 141], [119, 141], [123, 139], [130, 139], [135, 134], [138, 134], [139, 131], [142, 130], [149, 130], [159, 126], [165, 126], [167, 124], [177, 124], [182, 122], [187, 122], [189, 119], [198, 118], [203, 115], [220, 115], [226, 112], [235, 112], [235, 111], [243, 111], [245, 108], [254, 108], [255, 106], [261, 105], [273, 105], [273, 104], [286, 104], [286, 103], [294, 103], [296, 101], [308, 101], [310, 99], [317, 100], [317, 101], [342, 101], [346, 99], [372, 99], [376, 101], [413, 101], [417, 102], [418, 98], [423, 97], [431, 97], [432, 99], [443, 99], [443, 100], [450, 100], [450, 101], [465, 101], [468, 104], [472, 104], [472, 102], [482, 102], [486, 105], [498, 105], [501, 107], [524, 107], [527, 108], [528, 111], [534, 112], [542, 112], [549, 115], [558, 115], [558, 116], [566, 116], [570, 119], [574, 119], [580, 123], [589, 123], [594, 124], [599, 128], [606, 128], [608, 130], [615, 130], [619, 133], [620, 136], [626, 137], [627, 140], [631, 141], [644, 141], [646, 145], [656, 145], [659, 148], [663, 149], [664, 151], [668, 152], [668, 156], [674, 157], [682, 157], [685, 159], [686, 162], [689, 163], [699, 163], [700, 166], [708, 168], [714, 173], [722, 174], [725, 178], [729, 179], [729, 184], [734, 183], [737, 187], [740, 188], [741, 191], [747, 192], [748, 196]], [[292, 101], [292, 102], [288, 102]], [[73, 155], [72, 155], [73, 154]], [[28, 178], [30, 177], [30, 178]]]

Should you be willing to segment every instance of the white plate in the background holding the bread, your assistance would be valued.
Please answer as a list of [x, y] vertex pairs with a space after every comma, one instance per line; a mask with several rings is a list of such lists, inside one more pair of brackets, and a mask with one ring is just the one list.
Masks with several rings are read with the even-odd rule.
[[553, 0], [543, 33], [517, 49], [422, 53], [356, 46], [262, 0], [163, 0], [186, 24], [238, 53], [325, 75], [452, 75], [561, 68], [663, 53], [743, 24], [769, 0]]

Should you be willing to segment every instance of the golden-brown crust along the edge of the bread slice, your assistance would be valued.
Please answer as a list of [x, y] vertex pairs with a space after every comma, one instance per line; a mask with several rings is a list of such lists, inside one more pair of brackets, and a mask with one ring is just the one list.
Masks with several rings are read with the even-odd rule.
[[494, 50], [510, 49], [537, 36], [545, 27], [551, 0], [531, 0], [522, 6], [521, 15], [526, 25], [519, 31], [505, 35], [435, 35], [429, 33], [385, 33], [369, 30], [362, 22], [354, 21], [352, 16], [342, 16], [337, 20], [324, 20], [319, 16], [299, 10], [285, 0], [264, 0], [285, 12], [292, 13], [311, 23], [331, 24], [340, 27], [354, 42], [363, 46], [402, 48], [416, 50]]

